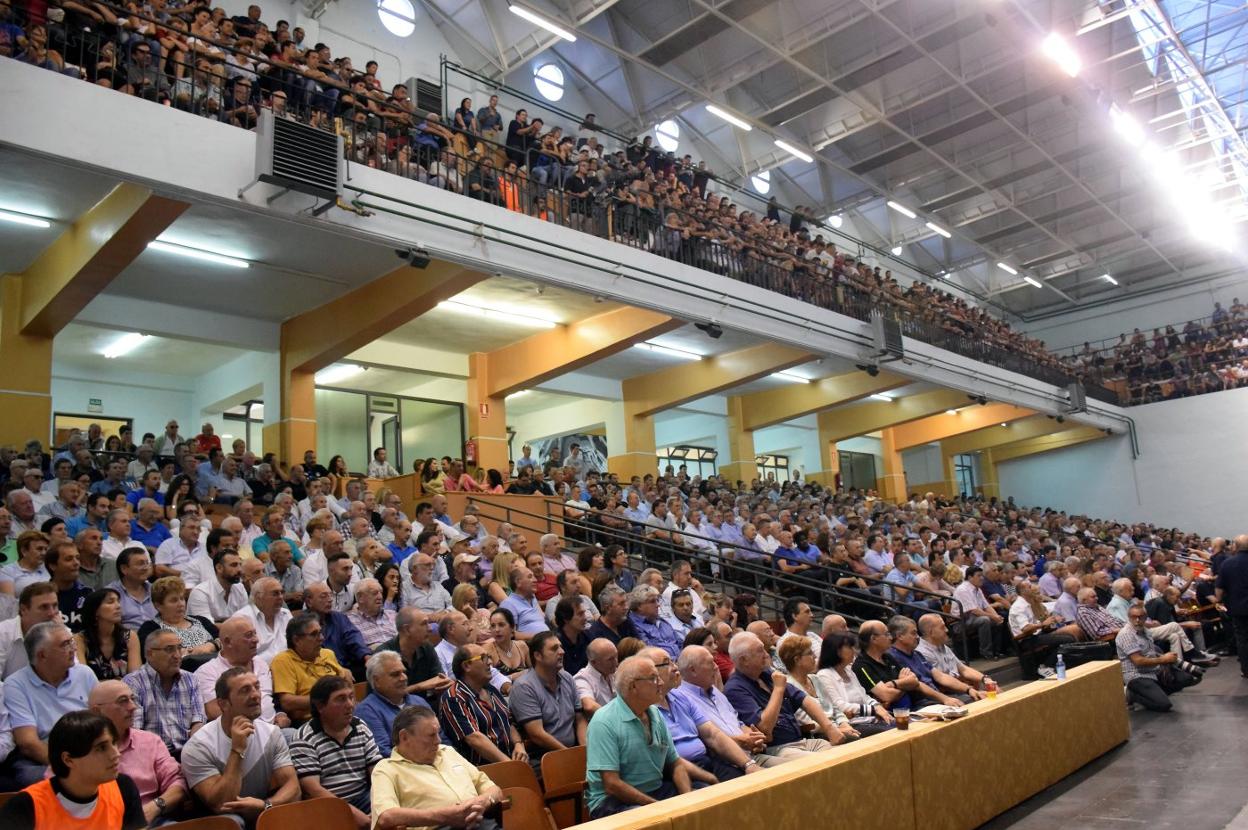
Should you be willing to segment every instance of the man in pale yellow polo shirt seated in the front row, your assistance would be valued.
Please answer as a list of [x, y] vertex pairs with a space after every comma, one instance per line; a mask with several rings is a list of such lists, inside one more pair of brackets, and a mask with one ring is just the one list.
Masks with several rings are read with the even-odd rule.
[[391, 736], [394, 751], [373, 768], [373, 830], [499, 826], [503, 790], [439, 743], [432, 709], [407, 706], [394, 718]]

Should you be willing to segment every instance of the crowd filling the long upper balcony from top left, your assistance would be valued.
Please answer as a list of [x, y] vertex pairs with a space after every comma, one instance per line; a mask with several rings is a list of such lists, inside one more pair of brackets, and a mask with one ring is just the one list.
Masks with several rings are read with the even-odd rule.
[[[839, 250], [814, 208], [750, 210], [713, 192], [713, 172], [653, 136], [617, 141], [585, 116], [545, 124], [505, 112], [498, 95], [453, 115], [418, 111], [404, 84], [388, 91], [378, 65], [354, 66], [257, 5], [171, 0], [60, 4], [0, 0], [0, 56], [65, 72], [243, 129], [261, 110], [324, 129], [337, 122], [349, 160], [514, 211], [644, 247], [660, 256], [866, 318], [890, 308], [907, 333], [1055, 382], [1070, 368], [1036, 338], [940, 287], [906, 285]], [[479, 102], [478, 102], [479, 104]]]

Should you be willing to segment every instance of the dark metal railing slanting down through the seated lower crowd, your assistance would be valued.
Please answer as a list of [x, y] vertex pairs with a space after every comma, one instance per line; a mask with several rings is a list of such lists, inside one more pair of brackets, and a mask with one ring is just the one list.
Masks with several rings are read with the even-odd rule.
[[[734, 593], [749, 592], [755, 594], [759, 598], [760, 607], [770, 605], [778, 615], [784, 602], [790, 597], [796, 595], [805, 598], [820, 614], [841, 614], [850, 622], [857, 624], [867, 619], [886, 619], [894, 614], [904, 614], [907, 617], [915, 617], [919, 613], [940, 614], [945, 618], [950, 630], [958, 638], [962, 654], [968, 654], [967, 632], [966, 627], [961, 624], [962, 604], [952, 597], [946, 597], [943, 594], [937, 594], [910, 585], [906, 587], [907, 594], [911, 597], [920, 597], [922, 598], [921, 600], [899, 602], [895, 599], [886, 599], [881, 595], [882, 589], [891, 590], [894, 585], [884, 579], [876, 579], [872, 577], [860, 577], [869, 584], [867, 590], [849, 590], [845, 588], [837, 588], [835, 584], [830, 584], [826, 579], [820, 582], [817, 579], [804, 577], [801, 573], [786, 574], [779, 568], [769, 568], [754, 562], [731, 559], [721, 554], [708, 555], [706, 552], [695, 548], [676, 547], [671, 543], [656, 542], [631, 528], [613, 529], [605, 528], [600, 524], [590, 525], [589, 523], [577, 522], [575, 519], [569, 520], [569, 518], [563, 513], [563, 503], [557, 499], [544, 499], [544, 515], [509, 505], [504, 507], [498, 504], [495, 500], [483, 500], [473, 496], [468, 497], [468, 502], [477, 505], [478, 515], [488, 519], [495, 522], [504, 520], [513, 527], [533, 530], [535, 533], [554, 533], [559, 537], [560, 544], [565, 549], [577, 549], [595, 542], [602, 547], [607, 547], [608, 544], [619, 544], [628, 550], [631, 557], [641, 559], [644, 567], [658, 568], [660, 570], [670, 570], [674, 560], [686, 559], [694, 563], [695, 569], [700, 568], [703, 573], [718, 572], [714, 577], [716, 584], [724, 588], [730, 588]], [[494, 510], [500, 508], [502, 517], [493, 514]], [[558, 512], [555, 512], [555, 509], [558, 509]], [[602, 515], [600, 510], [577, 509], [583, 512], [585, 515]], [[563, 525], [563, 533], [558, 533], [555, 530], [558, 525]], [[577, 535], [569, 535], [569, 527], [584, 533], [578, 533], [580, 538], [577, 538]], [[588, 535], [589, 533], [593, 533], [594, 537]], [[716, 550], [720, 548], [726, 549], [733, 547], [731, 544], [724, 544], [716, 539], [696, 533], [686, 533], [684, 530], [679, 530], [676, 533], [679, 533], [683, 538], [709, 542], [715, 545]], [[872, 589], [880, 589], [881, 593], [876, 593], [876, 590]], [[872, 610], [877, 612], [877, 614], [867, 613]]]

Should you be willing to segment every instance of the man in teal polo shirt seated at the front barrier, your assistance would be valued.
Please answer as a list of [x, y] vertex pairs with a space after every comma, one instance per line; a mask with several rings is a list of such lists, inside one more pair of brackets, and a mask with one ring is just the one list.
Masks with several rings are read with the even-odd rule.
[[585, 739], [589, 815], [600, 819], [693, 789], [659, 713], [654, 660], [635, 655], [615, 670], [617, 696], [594, 713]]

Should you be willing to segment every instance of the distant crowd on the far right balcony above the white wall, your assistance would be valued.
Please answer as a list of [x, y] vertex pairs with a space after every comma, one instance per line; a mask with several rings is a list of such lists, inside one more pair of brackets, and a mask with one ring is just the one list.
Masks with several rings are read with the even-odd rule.
[[1208, 317], [1176, 326], [1152, 334], [1136, 328], [1098, 348], [1083, 343], [1067, 363], [1091, 382], [1121, 384], [1124, 404], [1248, 386], [1248, 306], [1239, 297], [1231, 308], [1214, 302]]

